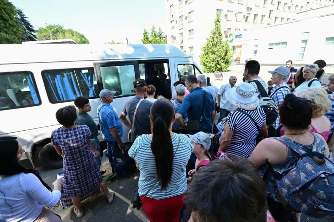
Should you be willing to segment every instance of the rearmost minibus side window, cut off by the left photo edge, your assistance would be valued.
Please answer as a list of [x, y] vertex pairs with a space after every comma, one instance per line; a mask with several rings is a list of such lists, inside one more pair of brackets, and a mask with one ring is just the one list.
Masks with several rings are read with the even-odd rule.
[[0, 110], [41, 104], [32, 72], [0, 73]]

